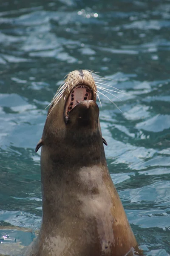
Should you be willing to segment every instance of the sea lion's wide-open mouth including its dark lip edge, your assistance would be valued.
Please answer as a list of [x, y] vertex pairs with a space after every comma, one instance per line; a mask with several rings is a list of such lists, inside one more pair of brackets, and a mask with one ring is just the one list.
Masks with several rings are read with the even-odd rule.
[[92, 100], [93, 98], [93, 92], [90, 87], [85, 84], [77, 85], [74, 90], [71, 91], [65, 103], [65, 117], [68, 117], [69, 112], [80, 102]]

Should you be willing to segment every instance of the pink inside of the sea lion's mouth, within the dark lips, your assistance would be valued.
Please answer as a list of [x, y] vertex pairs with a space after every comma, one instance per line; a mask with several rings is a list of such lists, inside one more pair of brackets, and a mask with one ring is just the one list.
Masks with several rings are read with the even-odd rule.
[[88, 89], [87, 86], [85, 85], [80, 85], [78, 87], [76, 87], [71, 95], [68, 98], [68, 111], [67, 113], [74, 108], [77, 104], [79, 104], [79, 102], [83, 101], [83, 100], [90, 100], [92, 99], [92, 93], [91, 90]]

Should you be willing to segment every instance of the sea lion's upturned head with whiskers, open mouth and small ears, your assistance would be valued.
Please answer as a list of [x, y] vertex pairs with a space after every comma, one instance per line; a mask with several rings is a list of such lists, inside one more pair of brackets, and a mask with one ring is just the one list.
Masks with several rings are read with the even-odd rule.
[[[94, 78], [88, 70], [69, 73], [51, 102], [36, 152], [41, 145], [91, 144], [97, 135], [102, 140], [96, 93]], [[103, 142], [106, 144], [104, 139]]]

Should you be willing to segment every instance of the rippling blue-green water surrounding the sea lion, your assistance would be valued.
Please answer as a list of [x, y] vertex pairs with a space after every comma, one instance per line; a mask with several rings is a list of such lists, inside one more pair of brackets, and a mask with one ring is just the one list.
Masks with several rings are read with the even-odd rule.
[[107, 94], [123, 114], [100, 107], [127, 218], [145, 255], [170, 255], [169, 63], [169, 0], [0, 1], [0, 254], [40, 228], [45, 107], [68, 72], [91, 69], [127, 93]]

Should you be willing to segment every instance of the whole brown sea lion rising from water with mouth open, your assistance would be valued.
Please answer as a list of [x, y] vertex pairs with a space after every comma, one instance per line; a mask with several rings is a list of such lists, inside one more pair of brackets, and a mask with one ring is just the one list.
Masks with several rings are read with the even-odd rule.
[[137, 245], [108, 171], [91, 72], [75, 70], [48, 110], [42, 224], [26, 256], [125, 256]]

